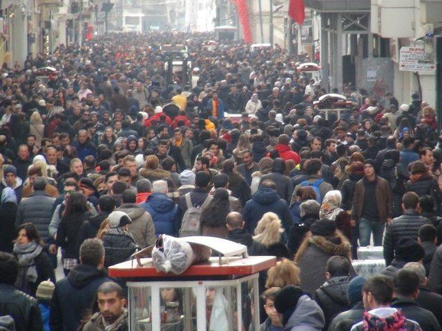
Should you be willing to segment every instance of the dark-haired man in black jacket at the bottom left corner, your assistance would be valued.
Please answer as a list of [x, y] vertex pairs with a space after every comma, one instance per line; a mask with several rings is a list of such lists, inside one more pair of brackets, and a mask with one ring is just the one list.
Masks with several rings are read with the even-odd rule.
[[14, 319], [16, 331], [41, 331], [43, 322], [36, 299], [17, 288], [19, 262], [9, 253], [0, 252], [0, 316]]

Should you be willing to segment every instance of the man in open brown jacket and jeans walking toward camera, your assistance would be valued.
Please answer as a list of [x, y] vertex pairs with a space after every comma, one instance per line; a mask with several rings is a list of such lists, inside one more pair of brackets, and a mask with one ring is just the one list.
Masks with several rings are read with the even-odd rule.
[[390, 184], [376, 175], [376, 161], [364, 162], [364, 177], [356, 183], [352, 208], [352, 226], [358, 226], [361, 246], [368, 246], [373, 233], [375, 246], [382, 245], [385, 223], [392, 217]]

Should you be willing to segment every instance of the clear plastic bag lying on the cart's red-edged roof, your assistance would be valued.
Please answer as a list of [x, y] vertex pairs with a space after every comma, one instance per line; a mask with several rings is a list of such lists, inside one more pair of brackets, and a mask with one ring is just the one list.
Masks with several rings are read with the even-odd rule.
[[195, 259], [189, 243], [166, 234], [158, 237], [152, 250], [153, 266], [157, 271], [182, 274]]

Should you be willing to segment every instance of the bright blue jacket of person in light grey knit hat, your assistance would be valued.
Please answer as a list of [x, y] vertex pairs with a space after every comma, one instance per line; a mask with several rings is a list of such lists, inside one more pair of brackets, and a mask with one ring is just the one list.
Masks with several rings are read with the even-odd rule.
[[173, 200], [162, 193], [153, 193], [148, 201], [140, 204], [153, 219], [155, 225], [155, 236], [169, 234], [178, 235], [178, 213], [177, 205]]

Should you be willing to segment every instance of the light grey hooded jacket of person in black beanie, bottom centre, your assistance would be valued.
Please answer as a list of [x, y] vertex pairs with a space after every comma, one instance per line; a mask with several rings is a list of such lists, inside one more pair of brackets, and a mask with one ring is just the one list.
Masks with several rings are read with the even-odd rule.
[[318, 303], [304, 294], [298, 299], [294, 312], [284, 325], [284, 331], [320, 331], [324, 325], [324, 314]]

